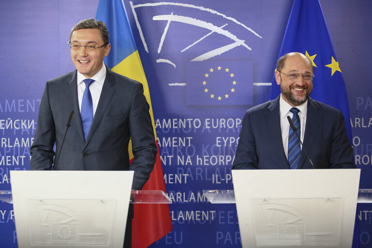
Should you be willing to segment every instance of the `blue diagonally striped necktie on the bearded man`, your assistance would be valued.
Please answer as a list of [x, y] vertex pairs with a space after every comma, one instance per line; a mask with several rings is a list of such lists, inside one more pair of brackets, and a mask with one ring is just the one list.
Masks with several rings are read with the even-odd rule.
[[[292, 121], [294, 126], [297, 128], [297, 134], [298, 136], [301, 136], [300, 118], [297, 114], [300, 110], [292, 108], [290, 111], [293, 113]], [[300, 140], [298, 139], [296, 133], [292, 131], [292, 128], [289, 128], [288, 162], [289, 165], [291, 166], [291, 169], [297, 169], [298, 160], [300, 159], [300, 152], [301, 152]]]

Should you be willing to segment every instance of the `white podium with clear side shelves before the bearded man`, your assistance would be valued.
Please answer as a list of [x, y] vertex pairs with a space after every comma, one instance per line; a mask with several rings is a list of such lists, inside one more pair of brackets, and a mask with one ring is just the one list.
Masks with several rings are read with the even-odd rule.
[[[236, 201], [243, 248], [350, 248], [359, 169], [233, 170], [234, 190], [205, 190], [213, 203]], [[359, 190], [359, 202], [371, 202]]]

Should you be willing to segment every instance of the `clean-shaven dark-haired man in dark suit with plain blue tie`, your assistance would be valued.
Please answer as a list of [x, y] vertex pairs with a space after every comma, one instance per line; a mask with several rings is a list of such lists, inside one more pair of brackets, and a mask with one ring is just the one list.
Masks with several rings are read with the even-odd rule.
[[[134, 171], [132, 188], [141, 189], [157, 152], [142, 84], [104, 65], [111, 48], [105, 23], [80, 21], [71, 30], [68, 45], [77, 70], [46, 84], [31, 146], [31, 170], [51, 170], [56, 157], [54, 170]], [[71, 111], [74, 115], [61, 151]], [[130, 166], [129, 140], [134, 155]], [[125, 242], [130, 242], [132, 217], [130, 207]]]

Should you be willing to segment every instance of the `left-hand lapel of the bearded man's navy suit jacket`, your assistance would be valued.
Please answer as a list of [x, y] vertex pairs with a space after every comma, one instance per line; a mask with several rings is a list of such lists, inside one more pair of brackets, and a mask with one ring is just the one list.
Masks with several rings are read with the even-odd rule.
[[[280, 97], [280, 95], [279, 95]], [[267, 131], [269, 132], [269, 137], [272, 137], [271, 142], [274, 144], [277, 156], [279, 158], [278, 165], [282, 166], [283, 169], [289, 169], [288, 159], [285, 156], [283, 141], [281, 140], [281, 128], [280, 128], [280, 108], [279, 108], [279, 97], [277, 97], [267, 108], [267, 112], [264, 113]], [[288, 166], [288, 168], [286, 168]]]

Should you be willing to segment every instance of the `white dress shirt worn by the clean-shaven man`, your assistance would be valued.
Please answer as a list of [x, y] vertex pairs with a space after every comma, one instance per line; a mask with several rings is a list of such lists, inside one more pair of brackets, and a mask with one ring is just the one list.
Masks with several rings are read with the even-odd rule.
[[[84, 79], [87, 79], [84, 75], [78, 72], [78, 101], [79, 101], [79, 110], [81, 111], [81, 102], [83, 101], [83, 94], [85, 91], [85, 83]], [[103, 83], [105, 82], [106, 78], [106, 66], [103, 64], [101, 70], [99, 70], [92, 79], [94, 82], [89, 86], [89, 90], [92, 95], [92, 103], [93, 103], [93, 117], [95, 114], [95, 110], [98, 106], [99, 97], [101, 96]]]

